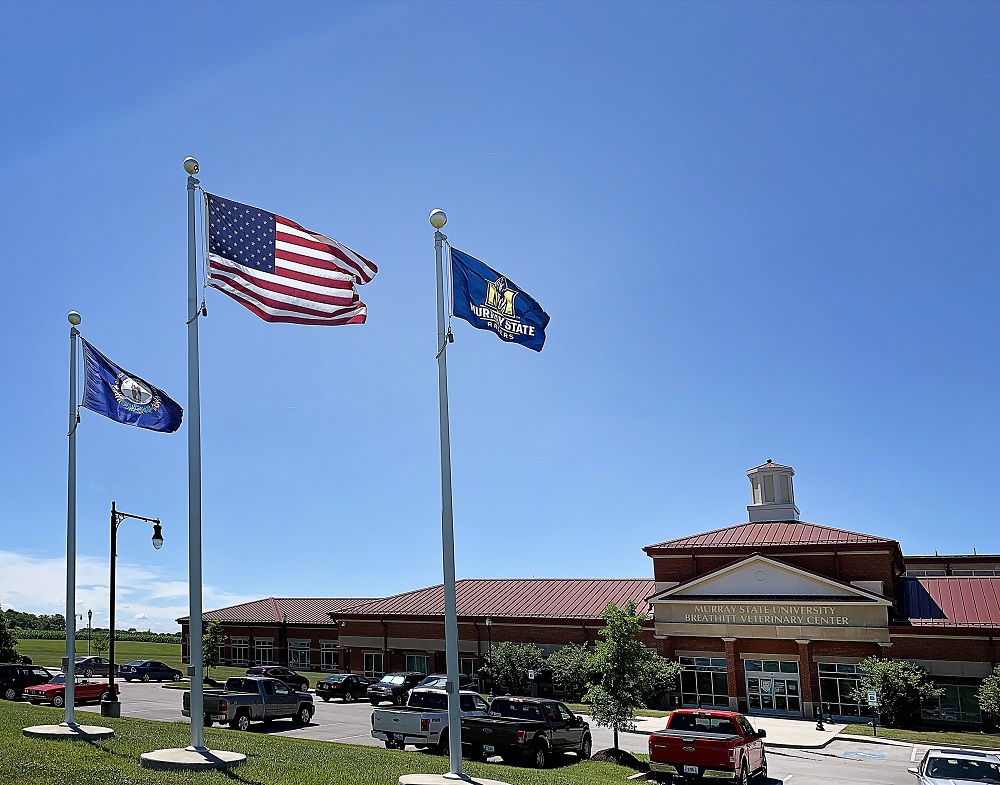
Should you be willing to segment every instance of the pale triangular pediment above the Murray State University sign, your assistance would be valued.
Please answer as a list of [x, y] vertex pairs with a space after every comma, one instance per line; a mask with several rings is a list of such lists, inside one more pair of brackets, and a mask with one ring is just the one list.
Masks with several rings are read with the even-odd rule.
[[788, 598], [891, 604], [884, 597], [856, 586], [769, 559], [759, 554], [658, 592], [650, 602], [710, 599]]

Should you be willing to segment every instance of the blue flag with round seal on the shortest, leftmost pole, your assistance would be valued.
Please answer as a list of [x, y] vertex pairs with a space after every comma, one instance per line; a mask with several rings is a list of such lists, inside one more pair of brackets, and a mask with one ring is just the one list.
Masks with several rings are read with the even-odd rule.
[[86, 341], [83, 360], [87, 366], [85, 408], [151, 431], [173, 433], [181, 427], [184, 410], [165, 392], [122, 370]]

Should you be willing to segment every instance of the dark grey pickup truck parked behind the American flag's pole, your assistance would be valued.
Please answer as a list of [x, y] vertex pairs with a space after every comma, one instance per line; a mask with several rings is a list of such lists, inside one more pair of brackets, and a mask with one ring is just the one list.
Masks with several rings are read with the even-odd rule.
[[[251, 722], [270, 722], [291, 717], [308, 725], [315, 712], [312, 695], [294, 692], [284, 682], [263, 676], [234, 676], [222, 690], [205, 690], [205, 726], [227, 722], [230, 728], [247, 730]], [[185, 717], [191, 716], [191, 693], [184, 693]]]

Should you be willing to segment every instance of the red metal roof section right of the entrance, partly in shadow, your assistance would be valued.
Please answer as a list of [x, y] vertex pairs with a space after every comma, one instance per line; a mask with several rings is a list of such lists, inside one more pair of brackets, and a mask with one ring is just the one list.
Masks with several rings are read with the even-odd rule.
[[916, 627], [1000, 627], [1000, 578], [905, 578], [903, 601]]

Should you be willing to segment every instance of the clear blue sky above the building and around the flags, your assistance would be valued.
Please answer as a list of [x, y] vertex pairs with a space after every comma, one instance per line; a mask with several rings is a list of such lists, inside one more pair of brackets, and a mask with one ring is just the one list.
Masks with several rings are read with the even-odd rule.
[[[441, 580], [432, 230], [552, 317], [456, 322], [459, 577], [651, 576], [803, 520], [1000, 552], [995, 3], [0, 5], [0, 603], [61, 612], [68, 324], [186, 404], [186, 195], [380, 267], [361, 327], [207, 293], [206, 607]], [[186, 432], [84, 411], [78, 598], [187, 612]]]

